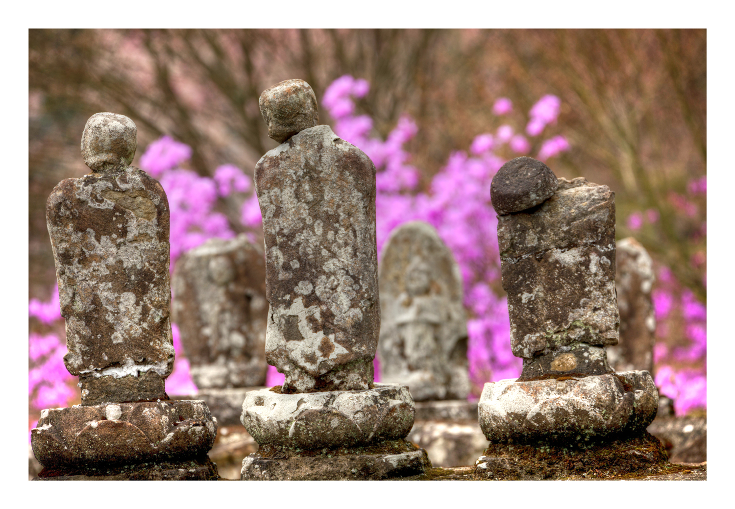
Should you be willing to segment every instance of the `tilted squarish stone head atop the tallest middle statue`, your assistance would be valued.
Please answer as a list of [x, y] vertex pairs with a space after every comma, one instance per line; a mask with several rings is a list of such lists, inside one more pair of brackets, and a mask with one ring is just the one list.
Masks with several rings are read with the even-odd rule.
[[319, 123], [317, 97], [303, 79], [287, 79], [264, 90], [258, 101], [268, 137], [279, 143]]

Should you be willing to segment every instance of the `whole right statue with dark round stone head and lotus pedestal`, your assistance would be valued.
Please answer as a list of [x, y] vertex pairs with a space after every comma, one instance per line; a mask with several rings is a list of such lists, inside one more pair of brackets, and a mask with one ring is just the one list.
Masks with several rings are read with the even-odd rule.
[[616, 373], [606, 358], [620, 322], [614, 193], [581, 177], [556, 178], [529, 157], [503, 165], [490, 192], [512, 352], [523, 372], [484, 386], [478, 412], [490, 447], [477, 472], [555, 477], [665, 461], [645, 431], [658, 405], [650, 373]]

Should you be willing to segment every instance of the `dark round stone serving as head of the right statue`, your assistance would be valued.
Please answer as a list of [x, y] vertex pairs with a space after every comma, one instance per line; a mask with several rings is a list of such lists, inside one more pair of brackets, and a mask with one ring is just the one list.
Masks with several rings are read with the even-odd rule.
[[495, 173], [490, 199], [495, 212], [511, 214], [543, 203], [557, 187], [559, 180], [547, 165], [531, 157], [516, 157]]

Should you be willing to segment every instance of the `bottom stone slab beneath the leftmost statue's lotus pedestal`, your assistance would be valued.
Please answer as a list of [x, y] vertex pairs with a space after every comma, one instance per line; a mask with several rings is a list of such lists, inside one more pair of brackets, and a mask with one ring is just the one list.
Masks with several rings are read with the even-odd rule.
[[[43, 474], [43, 472], [41, 472]], [[89, 469], [85, 474], [40, 475], [33, 480], [218, 480], [212, 461], [143, 463], [118, 469]]]

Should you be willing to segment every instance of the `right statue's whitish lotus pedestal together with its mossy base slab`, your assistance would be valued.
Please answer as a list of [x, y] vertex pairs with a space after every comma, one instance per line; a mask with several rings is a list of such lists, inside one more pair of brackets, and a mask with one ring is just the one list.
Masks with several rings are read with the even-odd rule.
[[525, 480], [653, 472], [667, 462], [646, 431], [658, 402], [648, 371], [486, 383], [478, 414], [490, 445], [475, 472]]

